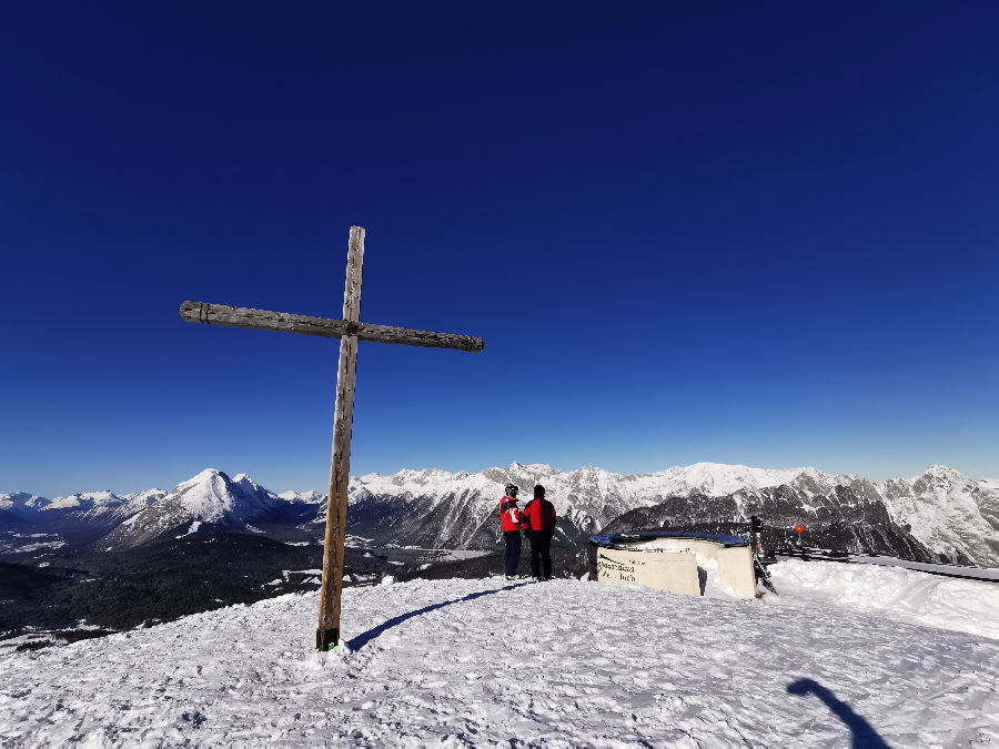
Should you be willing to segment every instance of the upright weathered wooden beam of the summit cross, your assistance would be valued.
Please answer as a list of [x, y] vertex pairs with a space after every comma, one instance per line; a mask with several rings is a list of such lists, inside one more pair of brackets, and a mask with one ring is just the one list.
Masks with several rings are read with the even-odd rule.
[[[347, 245], [343, 318], [361, 320], [361, 271], [364, 265], [364, 229], [351, 226]], [[325, 652], [340, 642], [340, 597], [343, 590], [343, 545], [346, 532], [347, 486], [351, 480], [351, 432], [354, 423], [354, 383], [357, 372], [357, 336], [340, 340], [336, 406], [333, 416], [333, 459], [326, 497], [326, 533], [323, 541], [323, 578], [315, 647]]]

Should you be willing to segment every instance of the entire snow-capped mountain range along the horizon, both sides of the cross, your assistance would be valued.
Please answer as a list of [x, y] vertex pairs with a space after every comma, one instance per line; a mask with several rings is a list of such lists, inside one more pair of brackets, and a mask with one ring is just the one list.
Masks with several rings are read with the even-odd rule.
[[[481, 473], [401, 470], [353, 477], [347, 533], [373, 546], [495, 549], [496, 505], [508, 483], [547, 488], [561, 516], [556, 541], [579, 545], [602, 530], [693, 528], [746, 533], [765, 523], [768, 546], [795, 540], [924, 561], [999, 566], [999, 480], [932, 466], [912, 478], [871, 482], [815, 468], [763, 469], [698, 463], [619, 475], [513, 463]], [[245, 474], [209, 468], [170, 492], [110, 492], [46, 499], [0, 494], [0, 553], [133, 548], [154, 539], [220, 533], [317, 543], [325, 497], [275, 494]]]

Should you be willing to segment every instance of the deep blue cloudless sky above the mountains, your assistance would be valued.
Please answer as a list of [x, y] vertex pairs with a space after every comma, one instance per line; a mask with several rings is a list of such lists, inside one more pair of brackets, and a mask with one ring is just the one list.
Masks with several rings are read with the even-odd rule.
[[999, 6], [16, 2], [0, 492], [698, 460], [999, 475]]

